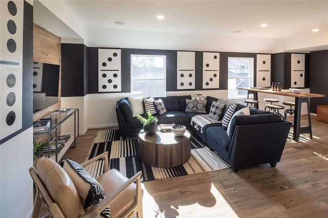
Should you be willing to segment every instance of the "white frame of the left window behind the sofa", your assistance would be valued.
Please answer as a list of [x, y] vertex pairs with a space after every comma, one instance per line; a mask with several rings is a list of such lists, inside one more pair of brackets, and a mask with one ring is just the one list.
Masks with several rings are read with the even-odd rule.
[[[162, 57], [163, 58], [163, 71], [164, 71], [164, 77], [163, 78], [134, 78], [132, 77], [132, 57]], [[162, 96], [155, 96], [155, 95], [150, 95], [152, 97], [166, 97], [166, 55], [141, 55], [141, 54], [131, 54], [130, 55], [130, 91], [131, 91], [131, 97], [133, 96], [133, 81], [142, 81], [142, 80], [163, 80], [164, 81], [164, 93]]]

